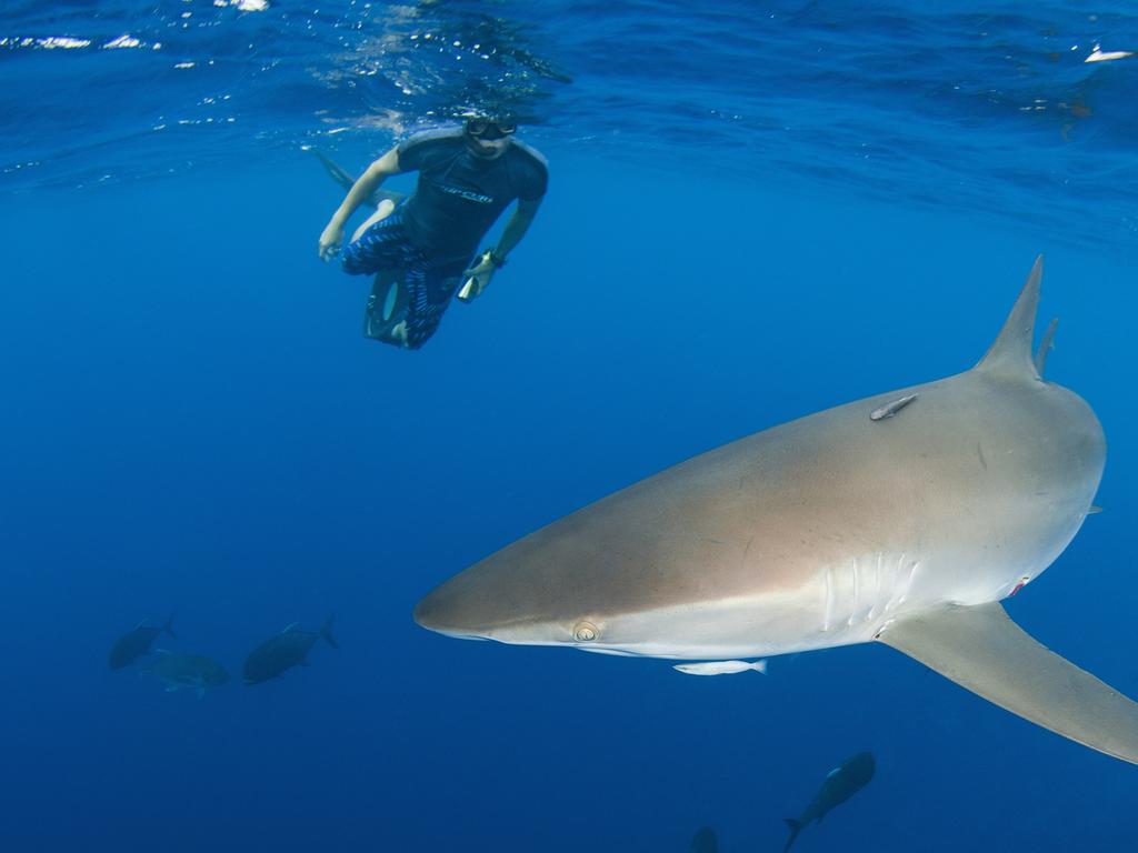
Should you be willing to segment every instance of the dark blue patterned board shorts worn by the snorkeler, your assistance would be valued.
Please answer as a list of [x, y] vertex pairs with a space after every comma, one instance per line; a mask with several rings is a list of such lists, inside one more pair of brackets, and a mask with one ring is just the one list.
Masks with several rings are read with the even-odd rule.
[[[344, 272], [352, 275], [370, 275], [384, 271], [403, 273], [399, 287], [401, 306], [405, 304], [402, 320], [406, 323], [409, 349], [419, 349], [438, 329], [443, 314], [451, 305], [451, 298], [459, 287], [462, 271], [470, 265], [470, 255], [430, 257], [407, 238], [403, 224], [403, 212], [396, 208], [387, 218], [380, 220], [360, 239], [344, 249]], [[377, 287], [380, 276], [377, 276]], [[376, 304], [384, 304], [385, 293], [372, 292], [369, 312]], [[368, 318], [365, 317], [365, 321]], [[396, 316], [382, 325], [390, 328], [401, 317]]]

